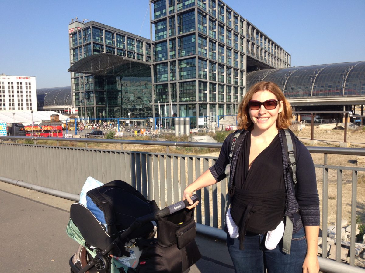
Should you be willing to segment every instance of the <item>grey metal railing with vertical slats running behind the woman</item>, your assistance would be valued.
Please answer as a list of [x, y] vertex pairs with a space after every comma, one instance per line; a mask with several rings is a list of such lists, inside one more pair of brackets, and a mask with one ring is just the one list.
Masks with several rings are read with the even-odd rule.
[[[32, 139], [35, 144], [0, 143], [0, 180], [33, 187], [44, 192], [77, 200], [88, 176], [103, 183], [120, 179], [130, 183], [147, 199], [155, 199], [160, 207], [181, 199], [184, 188], [212, 166], [217, 157], [169, 153], [169, 147], [220, 148], [222, 143], [137, 141], [120, 139], [64, 139], [39, 137], [0, 137], [0, 140]], [[38, 140], [54, 140], [57, 146], [37, 145]], [[91, 149], [87, 147], [59, 146], [60, 141], [119, 144], [120, 150]], [[123, 150], [123, 145], [166, 146], [166, 153], [149, 153]], [[61, 142], [62, 145], [62, 142]], [[365, 155], [365, 149], [339, 147], [307, 147], [310, 153], [323, 154], [323, 164], [315, 165], [322, 172], [322, 230], [327, 231], [328, 219], [328, 171], [337, 172], [337, 234], [341, 234], [343, 171], [351, 171], [351, 237], [350, 265], [355, 264], [355, 232], [357, 206], [357, 178], [365, 168], [327, 165], [327, 155]], [[318, 178], [320, 179], [320, 178]], [[15, 182], [14, 182], [15, 181]], [[27, 184], [30, 183], [30, 184]], [[29, 186], [31, 185], [31, 186]], [[47, 190], [50, 189], [50, 190]], [[227, 180], [197, 191], [200, 205], [196, 208], [198, 231], [224, 239], [221, 229], [224, 219], [224, 203]], [[201, 225], [199, 225], [201, 224]], [[327, 257], [327, 240], [322, 240], [321, 270], [343, 272], [341, 237], [336, 238], [336, 262]], [[347, 265], [347, 272], [358, 272], [356, 266]], [[362, 269], [361, 269], [362, 270]], [[363, 271], [362, 271], [363, 272]]]

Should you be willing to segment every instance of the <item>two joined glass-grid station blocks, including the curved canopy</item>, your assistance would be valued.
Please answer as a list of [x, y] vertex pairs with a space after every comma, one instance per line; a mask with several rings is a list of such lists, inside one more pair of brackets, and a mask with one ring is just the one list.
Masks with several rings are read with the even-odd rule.
[[290, 67], [288, 52], [223, 1], [150, 0], [150, 24], [147, 39], [72, 20], [69, 71], [80, 117], [166, 113], [194, 125], [199, 116], [236, 114], [247, 72]]

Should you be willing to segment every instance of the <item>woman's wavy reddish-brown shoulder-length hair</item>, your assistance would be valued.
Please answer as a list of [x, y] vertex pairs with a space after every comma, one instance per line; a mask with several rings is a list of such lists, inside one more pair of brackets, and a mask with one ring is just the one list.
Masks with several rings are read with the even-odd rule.
[[251, 131], [253, 129], [253, 122], [250, 119], [249, 115], [249, 101], [252, 99], [253, 94], [258, 91], [269, 91], [272, 92], [278, 100], [283, 102], [283, 111], [278, 114], [278, 118], [276, 120], [276, 127], [278, 129], [287, 129], [292, 124], [292, 106], [285, 98], [283, 91], [281, 91], [280, 87], [276, 83], [273, 82], [258, 82], [251, 86], [250, 90], [243, 97], [241, 103], [238, 107], [238, 129], [245, 129]]

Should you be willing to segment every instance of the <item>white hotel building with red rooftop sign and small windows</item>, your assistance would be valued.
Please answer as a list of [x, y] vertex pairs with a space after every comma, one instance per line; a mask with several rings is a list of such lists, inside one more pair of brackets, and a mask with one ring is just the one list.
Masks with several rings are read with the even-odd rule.
[[35, 77], [0, 75], [0, 111], [37, 111]]

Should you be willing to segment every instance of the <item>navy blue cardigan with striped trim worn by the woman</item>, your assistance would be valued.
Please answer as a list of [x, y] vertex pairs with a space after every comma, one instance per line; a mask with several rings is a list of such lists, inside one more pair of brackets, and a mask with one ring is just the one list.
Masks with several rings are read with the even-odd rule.
[[[224, 140], [222, 149], [218, 160], [210, 167], [210, 171], [216, 181], [221, 181], [226, 177], [224, 170], [229, 164], [228, 155], [230, 153], [230, 145], [235, 133], [228, 135]], [[246, 134], [247, 135], [247, 134]], [[316, 173], [312, 157], [306, 148], [299, 140], [295, 139], [296, 144], [296, 177], [297, 186], [296, 193], [291, 179], [291, 175], [286, 171], [288, 167], [288, 160], [285, 156], [285, 150], [283, 146], [283, 137], [285, 133], [283, 130], [279, 130], [279, 139], [281, 144], [281, 152], [283, 157], [283, 174], [285, 181], [285, 190], [287, 191], [287, 197], [285, 201], [285, 213], [289, 215], [293, 222], [293, 233], [297, 232], [304, 226], [319, 226], [320, 214], [319, 214], [319, 198], [317, 193], [317, 181]], [[237, 152], [232, 157], [230, 178], [234, 178], [235, 167], [237, 165], [238, 154], [242, 148], [243, 138], [240, 143], [236, 143], [238, 146]], [[233, 180], [232, 180], [233, 181]], [[299, 210], [300, 215], [296, 213]]]

